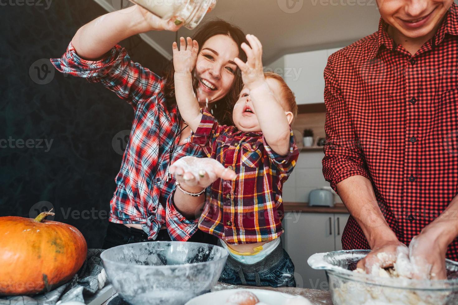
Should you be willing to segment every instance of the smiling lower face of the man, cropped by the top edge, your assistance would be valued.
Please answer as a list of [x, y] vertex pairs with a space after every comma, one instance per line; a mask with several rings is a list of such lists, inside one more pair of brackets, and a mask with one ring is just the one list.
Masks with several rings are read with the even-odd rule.
[[433, 32], [452, 3], [453, 0], [377, 0], [383, 20], [409, 38]]

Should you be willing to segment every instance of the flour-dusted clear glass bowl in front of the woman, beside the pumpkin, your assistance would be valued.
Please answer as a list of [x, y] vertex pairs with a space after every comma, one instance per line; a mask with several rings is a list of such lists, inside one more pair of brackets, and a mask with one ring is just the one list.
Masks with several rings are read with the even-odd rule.
[[209, 292], [228, 251], [219, 246], [152, 241], [116, 246], [100, 255], [114, 290], [133, 305], [183, 305]]

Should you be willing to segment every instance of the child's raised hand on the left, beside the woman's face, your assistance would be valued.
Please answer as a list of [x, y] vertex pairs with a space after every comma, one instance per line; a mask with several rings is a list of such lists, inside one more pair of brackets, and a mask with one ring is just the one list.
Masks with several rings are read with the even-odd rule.
[[[186, 45], [187, 43], [187, 45]], [[197, 54], [199, 53], [199, 44], [191, 37], [180, 37], [180, 49], [178, 44], [173, 43], [173, 64], [175, 73], [191, 73], [196, 66]]]

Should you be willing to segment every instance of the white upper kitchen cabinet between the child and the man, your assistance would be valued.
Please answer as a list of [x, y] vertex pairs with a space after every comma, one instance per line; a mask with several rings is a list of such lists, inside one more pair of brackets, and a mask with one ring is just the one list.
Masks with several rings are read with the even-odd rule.
[[296, 95], [301, 104], [324, 103], [323, 71], [327, 58], [340, 48], [287, 54], [266, 66], [266, 70], [276, 72]]

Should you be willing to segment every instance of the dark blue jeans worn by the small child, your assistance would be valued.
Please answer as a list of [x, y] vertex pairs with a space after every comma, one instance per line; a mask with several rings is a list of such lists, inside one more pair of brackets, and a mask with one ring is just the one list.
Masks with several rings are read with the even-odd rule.
[[219, 281], [232, 285], [296, 287], [294, 263], [281, 244], [254, 264], [241, 263], [229, 255]]

